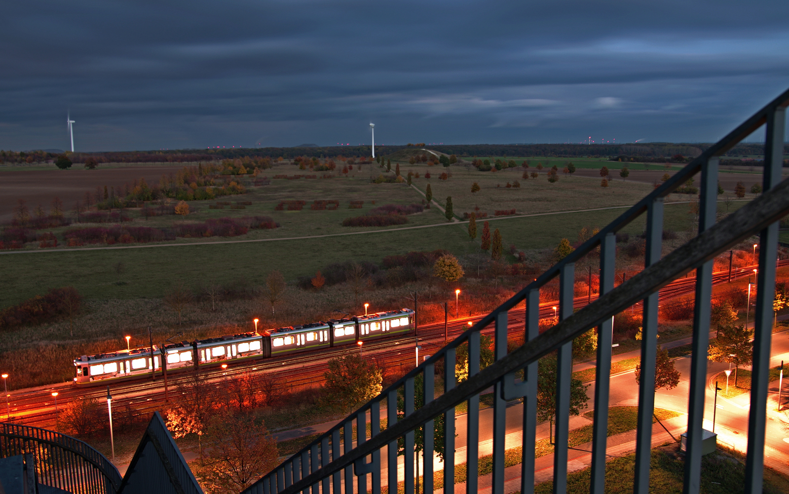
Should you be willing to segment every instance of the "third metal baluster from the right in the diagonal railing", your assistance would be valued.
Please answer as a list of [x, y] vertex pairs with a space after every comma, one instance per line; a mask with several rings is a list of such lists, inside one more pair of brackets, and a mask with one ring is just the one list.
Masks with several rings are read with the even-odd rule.
[[[716, 182], [717, 191], [717, 182]], [[660, 261], [663, 244], [663, 198], [649, 205], [646, 216], [645, 266]], [[655, 411], [655, 354], [657, 351], [657, 305], [659, 292], [644, 299], [641, 322], [641, 382], [638, 386], [638, 427], [634, 494], [649, 492], [649, 460], [652, 455], [652, 416]]]

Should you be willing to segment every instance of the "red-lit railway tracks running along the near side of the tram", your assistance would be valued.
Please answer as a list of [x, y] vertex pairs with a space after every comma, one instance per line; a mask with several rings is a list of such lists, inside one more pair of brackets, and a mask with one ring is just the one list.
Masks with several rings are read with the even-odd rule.
[[[789, 259], [778, 262], [778, 266], [789, 266]], [[731, 279], [747, 277], [751, 273], [753, 273], [753, 266], [732, 270]], [[712, 275], [713, 285], [720, 285], [727, 282], [728, 279], [728, 270], [713, 273]], [[694, 292], [694, 289], [694, 277], [675, 280], [660, 290], [660, 303], [664, 304], [668, 300], [688, 295]], [[585, 307], [585, 305], [593, 302], [596, 298], [596, 295], [577, 297], [574, 300], [574, 307]], [[540, 304], [540, 319], [554, 317], [555, 313], [552, 308], [554, 306], [555, 302]], [[638, 304], [636, 307], [638, 307]], [[417, 329], [418, 339], [408, 336], [368, 341], [361, 349], [361, 352], [368, 359], [376, 360], [384, 371], [405, 371], [416, 364], [415, 343], [418, 342], [422, 347], [420, 355], [420, 360], [422, 360], [422, 356], [431, 355], [432, 352], [441, 348], [445, 338], [451, 341], [469, 328], [469, 322], [473, 323], [479, 319], [481, 319], [480, 315], [451, 319], [447, 322], [446, 337], [444, 335], [443, 322], [420, 326]], [[513, 330], [522, 328], [525, 324], [523, 311], [510, 311], [509, 324]], [[492, 334], [493, 326], [484, 328], [482, 333]], [[214, 367], [201, 368], [200, 373], [208, 379], [209, 383], [219, 387], [224, 379], [231, 379], [244, 372], [268, 372], [273, 374], [274, 379], [282, 379], [286, 383], [286, 390], [299, 390], [322, 383], [323, 373], [327, 371], [327, 361], [349, 351], [357, 351], [357, 347], [343, 346], [335, 349], [320, 349], [301, 355], [272, 357], [252, 362], [230, 364], [226, 369], [222, 369], [217, 364]], [[166, 395], [170, 400], [175, 399], [175, 393], [178, 392], [176, 390], [178, 384], [191, 376], [192, 374], [188, 370], [169, 371], [167, 375], [167, 390], [165, 390], [164, 379], [160, 371], [156, 373], [155, 379], [146, 377], [128, 382], [113, 383], [110, 385], [113, 406], [115, 409], [118, 409], [118, 407], [129, 405], [135, 413], [140, 414], [162, 409], [166, 401]], [[53, 392], [58, 393], [57, 409], [55, 408], [55, 399], [52, 396]], [[10, 397], [12, 403], [11, 420], [36, 427], [54, 428], [55, 417], [58, 411], [74, 398], [82, 397], [97, 398], [103, 401], [107, 397], [107, 387], [77, 388], [71, 383], [60, 383], [13, 392]], [[0, 404], [0, 409], [2, 409], [2, 404]]]

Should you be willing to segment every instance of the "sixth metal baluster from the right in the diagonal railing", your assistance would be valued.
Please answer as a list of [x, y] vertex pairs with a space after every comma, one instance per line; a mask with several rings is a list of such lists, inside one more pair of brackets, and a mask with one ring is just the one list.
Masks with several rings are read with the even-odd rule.
[[[525, 341], [532, 341], [540, 334], [540, 290], [526, 294]], [[537, 362], [523, 370], [526, 381], [523, 397], [523, 456], [521, 466], [521, 493], [534, 492], [534, 445], [537, 437]]]

